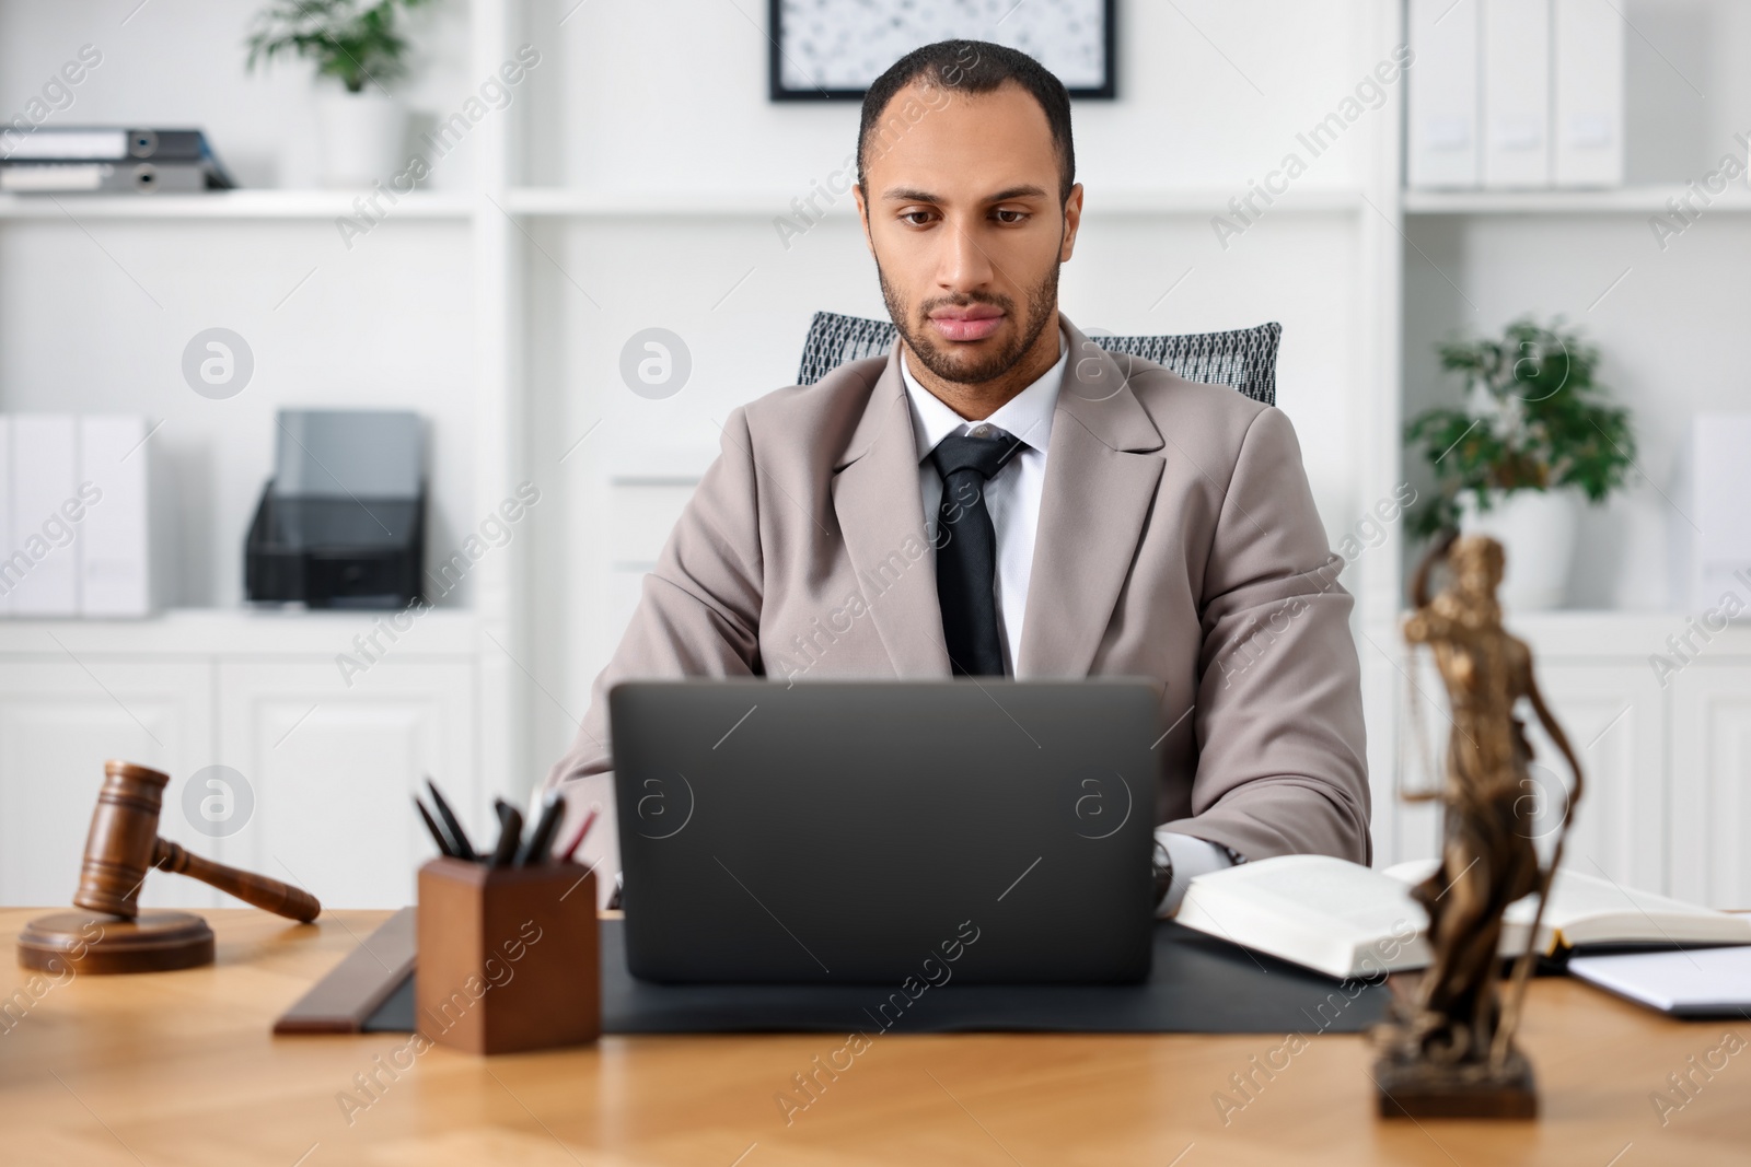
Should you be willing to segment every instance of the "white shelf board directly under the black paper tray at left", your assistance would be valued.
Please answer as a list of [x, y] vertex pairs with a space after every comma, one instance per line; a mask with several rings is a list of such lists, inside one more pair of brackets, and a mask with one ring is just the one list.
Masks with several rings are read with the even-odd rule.
[[[172, 609], [142, 619], [0, 618], [0, 656], [117, 658], [198, 656], [333, 661], [352, 653], [355, 635], [369, 635], [383, 621], [399, 639], [397, 660], [464, 658], [475, 653], [480, 618], [468, 609], [408, 612], [397, 628], [396, 611], [306, 609]], [[378, 633], [380, 644], [389, 644]]]

